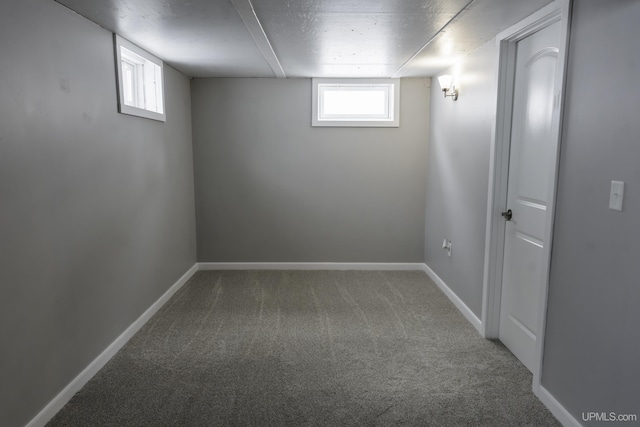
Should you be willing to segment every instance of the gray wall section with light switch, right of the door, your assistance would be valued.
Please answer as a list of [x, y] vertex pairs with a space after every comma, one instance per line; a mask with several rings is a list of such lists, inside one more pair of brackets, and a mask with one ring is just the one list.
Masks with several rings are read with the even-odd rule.
[[638, 1], [574, 2], [542, 385], [579, 421], [640, 416], [638, 22]]

